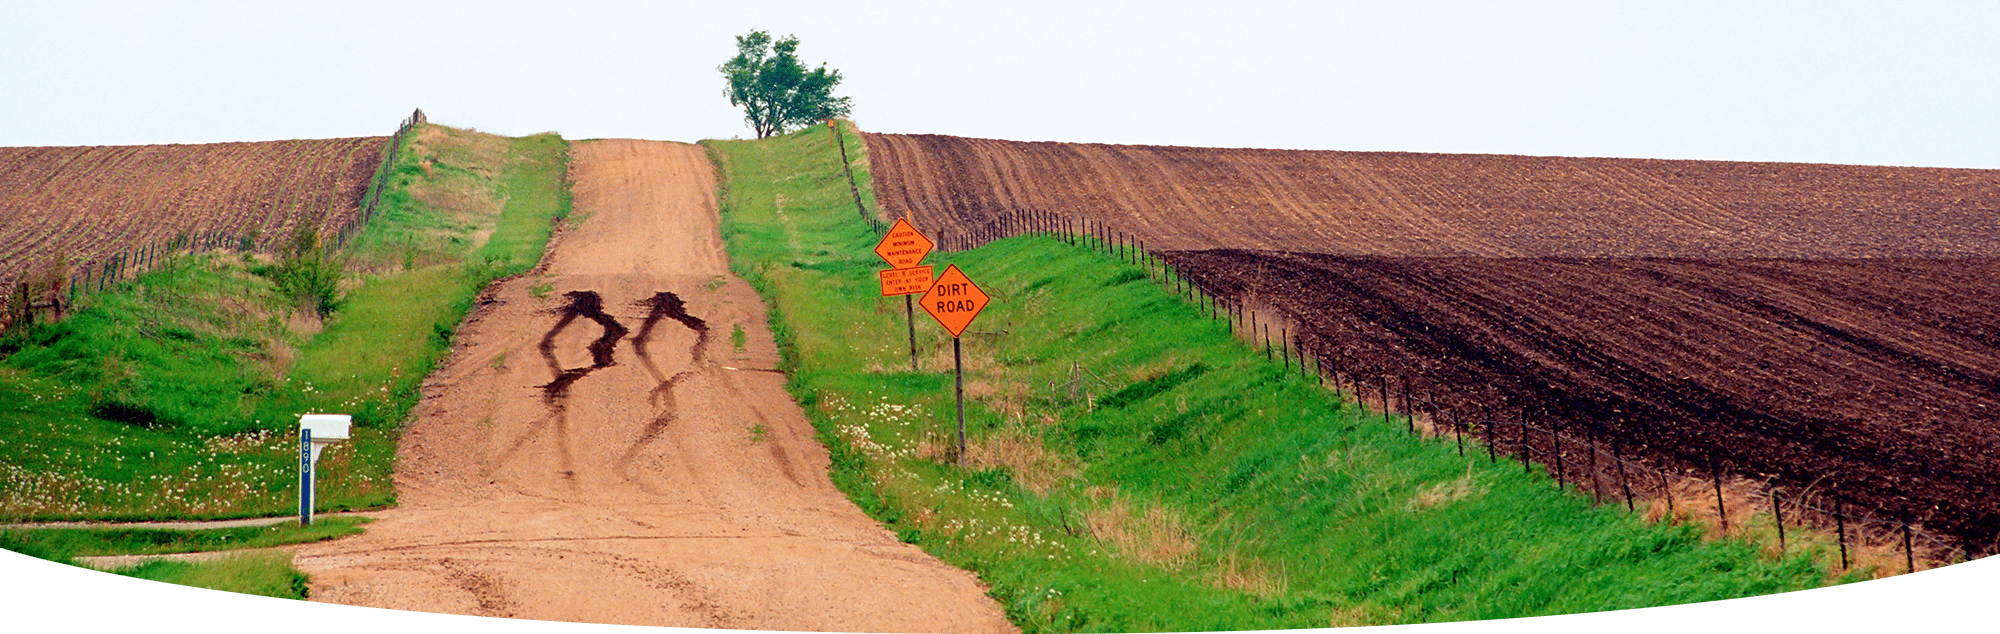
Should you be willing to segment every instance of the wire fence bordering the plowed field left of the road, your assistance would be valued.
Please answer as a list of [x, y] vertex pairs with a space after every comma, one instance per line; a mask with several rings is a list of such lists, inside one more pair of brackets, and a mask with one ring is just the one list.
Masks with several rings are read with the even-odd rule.
[[[398, 152], [404, 140], [424, 124], [424, 110], [418, 108], [402, 124], [396, 126], [396, 134], [386, 140], [382, 150], [382, 160], [376, 164], [374, 174], [368, 178], [368, 188], [356, 202], [356, 214], [334, 228], [330, 236], [332, 248], [342, 248], [346, 242], [368, 224], [382, 204], [382, 192], [388, 188], [388, 176], [396, 166]], [[320, 214], [326, 218], [326, 214]], [[324, 228], [322, 228], [324, 232]], [[38, 322], [60, 322], [74, 314], [92, 294], [104, 292], [124, 280], [134, 280], [150, 270], [160, 268], [174, 254], [188, 252], [210, 252], [210, 250], [230, 250], [244, 254], [274, 254], [288, 246], [286, 236], [268, 236], [262, 232], [192, 232], [178, 234], [168, 240], [158, 240], [140, 246], [128, 246], [118, 252], [98, 254], [90, 258], [60, 258], [44, 266], [42, 270], [30, 272], [24, 280], [16, 280], [12, 288], [6, 288], [6, 312], [0, 312], [0, 330], [10, 330], [14, 326], [38, 324]]]

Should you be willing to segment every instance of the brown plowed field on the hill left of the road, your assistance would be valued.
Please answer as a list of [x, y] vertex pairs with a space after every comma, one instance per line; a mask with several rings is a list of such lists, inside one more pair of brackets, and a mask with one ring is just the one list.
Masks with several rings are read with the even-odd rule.
[[180, 234], [356, 220], [386, 136], [168, 146], [0, 148], [0, 282], [62, 254], [94, 258]]

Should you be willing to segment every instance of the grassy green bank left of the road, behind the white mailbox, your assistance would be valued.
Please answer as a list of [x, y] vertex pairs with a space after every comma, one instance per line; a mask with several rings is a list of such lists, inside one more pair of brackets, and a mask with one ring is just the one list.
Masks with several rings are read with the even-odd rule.
[[10, 332], [0, 522], [296, 512], [304, 412], [358, 424], [322, 456], [320, 510], [392, 504], [396, 426], [480, 288], [540, 260], [566, 164], [556, 134], [420, 126], [384, 208], [332, 254], [324, 318], [274, 282], [288, 262], [204, 252]]

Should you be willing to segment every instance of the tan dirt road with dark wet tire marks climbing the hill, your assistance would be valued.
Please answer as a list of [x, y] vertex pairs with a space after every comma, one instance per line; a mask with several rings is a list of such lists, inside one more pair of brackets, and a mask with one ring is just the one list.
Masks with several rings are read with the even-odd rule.
[[702, 150], [586, 142], [572, 176], [582, 226], [544, 276], [496, 288], [426, 386], [400, 448], [402, 506], [364, 536], [296, 548], [312, 600], [1014, 632], [972, 574], [898, 542], [828, 482], [772, 370], [764, 304], [728, 272]]

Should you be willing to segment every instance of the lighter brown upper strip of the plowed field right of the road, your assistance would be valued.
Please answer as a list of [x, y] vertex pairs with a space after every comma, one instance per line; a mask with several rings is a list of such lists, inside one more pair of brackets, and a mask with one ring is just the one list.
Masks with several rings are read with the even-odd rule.
[[1156, 250], [2000, 256], [2000, 170], [864, 138], [884, 214], [926, 232], [1048, 210]]

